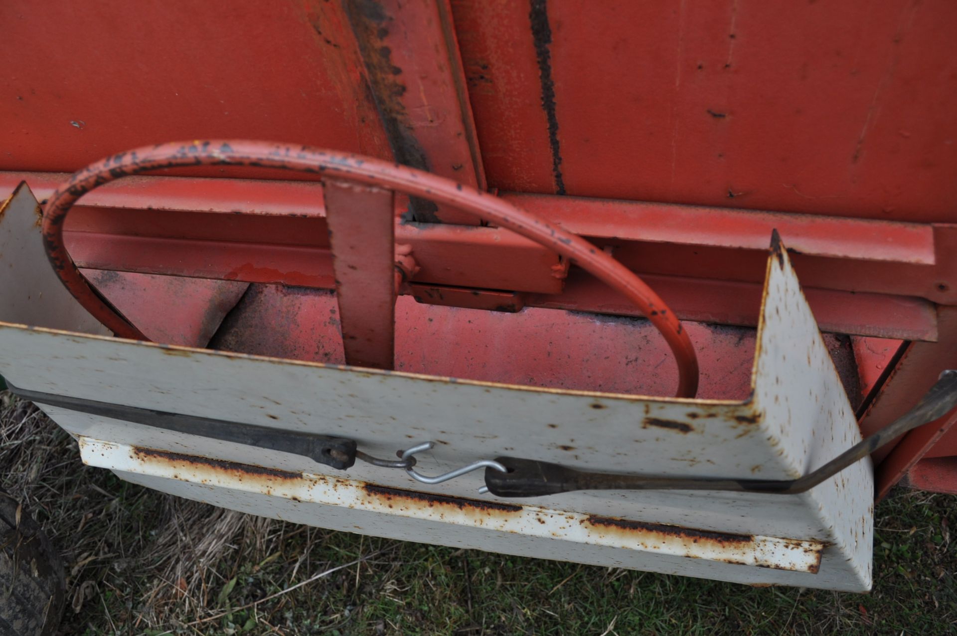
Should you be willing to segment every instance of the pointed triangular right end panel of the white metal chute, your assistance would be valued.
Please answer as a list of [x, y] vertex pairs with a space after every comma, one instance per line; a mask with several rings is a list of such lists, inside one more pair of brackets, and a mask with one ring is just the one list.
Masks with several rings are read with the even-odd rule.
[[[788, 250], [775, 233], [761, 303], [752, 404], [771, 448], [790, 459], [792, 479], [861, 441], [854, 408], [817, 329]], [[812, 426], [808, 425], [812, 422]], [[874, 476], [871, 459], [800, 495], [863, 589], [872, 583]]]

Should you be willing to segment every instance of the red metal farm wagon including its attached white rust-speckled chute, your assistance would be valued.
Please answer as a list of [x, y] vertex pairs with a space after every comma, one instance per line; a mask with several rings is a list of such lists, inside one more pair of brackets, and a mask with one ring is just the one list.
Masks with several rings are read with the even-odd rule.
[[874, 496], [957, 492], [954, 412], [827, 494], [711, 507], [518, 505], [479, 473], [430, 489], [196, 433], [739, 480], [871, 439], [957, 366], [953, 3], [8, 0], [0, 23], [0, 373], [88, 463], [343, 530], [855, 590]]

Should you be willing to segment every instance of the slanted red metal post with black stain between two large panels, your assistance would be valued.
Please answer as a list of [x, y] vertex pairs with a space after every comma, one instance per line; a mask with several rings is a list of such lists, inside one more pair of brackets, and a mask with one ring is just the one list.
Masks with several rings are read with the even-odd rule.
[[[343, 6], [395, 160], [484, 190], [448, 0], [345, 0]], [[409, 212], [418, 222], [479, 224], [422, 198], [412, 198]]]

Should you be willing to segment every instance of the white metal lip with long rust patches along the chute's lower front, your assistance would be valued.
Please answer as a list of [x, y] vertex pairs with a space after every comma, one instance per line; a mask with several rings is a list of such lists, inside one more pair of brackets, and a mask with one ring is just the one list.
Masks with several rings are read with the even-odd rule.
[[816, 574], [825, 547], [817, 541], [710, 533], [527, 505], [509, 506], [383, 488], [356, 480], [284, 473], [88, 437], [78, 437], [78, 444], [83, 463], [89, 466], [257, 492], [300, 503], [394, 514], [450, 525], [479, 526], [501, 533], [651, 554]]

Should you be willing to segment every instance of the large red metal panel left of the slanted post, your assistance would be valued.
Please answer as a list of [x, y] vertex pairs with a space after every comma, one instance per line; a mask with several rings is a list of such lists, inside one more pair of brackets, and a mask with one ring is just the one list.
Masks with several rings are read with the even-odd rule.
[[[220, 135], [391, 159], [339, 3], [0, 3], [0, 170]], [[347, 104], [347, 105], [345, 105]], [[315, 179], [277, 170], [189, 174]]]

